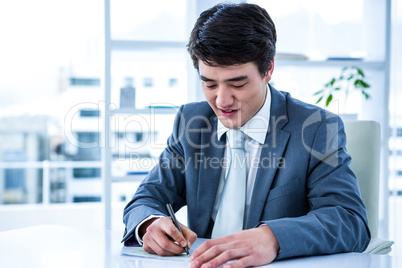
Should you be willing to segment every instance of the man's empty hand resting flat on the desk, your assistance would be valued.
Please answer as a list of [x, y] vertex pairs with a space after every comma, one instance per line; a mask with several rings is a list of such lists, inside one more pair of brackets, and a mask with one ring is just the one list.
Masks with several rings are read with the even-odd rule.
[[279, 251], [271, 228], [262, 225], [204, 242], [190, 257], [192, 268], [248, 267], [271, 263]]

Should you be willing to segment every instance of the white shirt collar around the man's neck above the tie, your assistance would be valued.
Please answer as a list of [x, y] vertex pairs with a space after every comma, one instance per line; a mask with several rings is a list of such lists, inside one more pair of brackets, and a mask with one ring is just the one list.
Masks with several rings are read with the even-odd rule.
[[[240, 128], [240, 130], [242, 130], [251, 139], [256, 140], [260, 144], [264, 144], [268, 132], [270, 110], [271, 110], [271, 91], [269, 89], [269, 86], [267, 85], [267, 94], [265, 97], [264, 105], [250, 120], [248, 120]], [[225, 134], [226, 131], [228, 131], [228, 128], [225, 127], [221, 123], [221, 121], [218, 120], [218, 130], [217, 130], [218, 140], [222, 138], [222, 135]]]

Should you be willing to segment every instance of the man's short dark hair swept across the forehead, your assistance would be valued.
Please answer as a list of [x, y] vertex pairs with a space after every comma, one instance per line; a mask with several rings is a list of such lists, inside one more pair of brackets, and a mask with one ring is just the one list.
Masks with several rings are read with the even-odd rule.
[[255, 4], [218, 4], [201, 13], [187, 49], [209, 66], [254, 62], [265, 75], [275, 56], [276, 30], [268, 12]]

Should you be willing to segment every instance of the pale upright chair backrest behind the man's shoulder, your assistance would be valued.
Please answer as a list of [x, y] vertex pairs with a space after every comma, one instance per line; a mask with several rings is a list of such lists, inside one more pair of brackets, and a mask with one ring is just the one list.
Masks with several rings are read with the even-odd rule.
[[380, 193], [380, 124], [375, 121], [344, 121], [344, 124], [346, 149], [352, 157], [350, 168], [359, 183], [371, 236], [376, 238]]

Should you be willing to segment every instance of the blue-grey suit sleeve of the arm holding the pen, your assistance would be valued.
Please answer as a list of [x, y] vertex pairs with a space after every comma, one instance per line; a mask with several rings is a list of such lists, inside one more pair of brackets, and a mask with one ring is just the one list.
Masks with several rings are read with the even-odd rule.
[[172, 204], [175, 211], [185, 205], [185, 161], [180, 139], [184, 133], [181, 128], [182, 109], [175, 118], [173, 132], [167, 141], [167, 148], [159, 157], [159, 163], [149, 172], [138, 187], [132, 200], [123, 213], [126, 226], [123, 242], [135, 241], [136, 226], [150, 215], [166, 216], [166, 204]]

